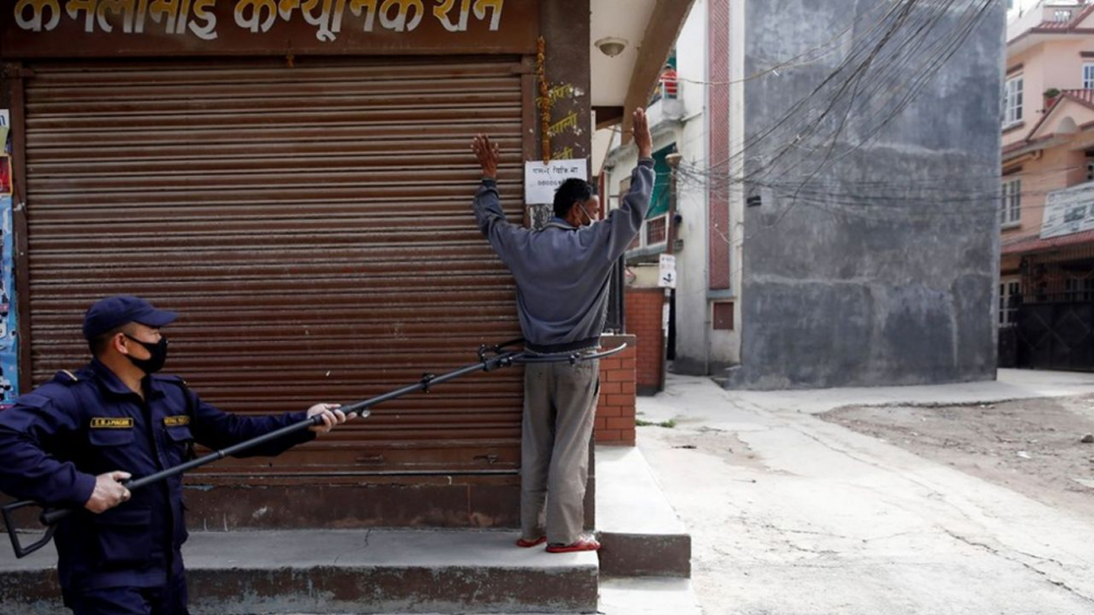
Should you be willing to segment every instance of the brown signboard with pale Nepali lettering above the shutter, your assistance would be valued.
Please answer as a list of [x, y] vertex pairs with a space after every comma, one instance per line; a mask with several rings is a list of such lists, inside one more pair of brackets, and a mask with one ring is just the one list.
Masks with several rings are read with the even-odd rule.
[[[57, 56], [62, 49], [44, 46], [51, 39], [69, 54], [83, 55], [74, 43], [109, 48], [108, 39], [112, 50], [124, 55], [133, 44], [147, 51], [144, 39], [158, 38], [182, 44], [189, 39], [190, 52], [218, 47], [231, 52], [246, 50], [241, 42], [248, 38], [252, 47], [275, 40], [283, 46], [288, 35], [295, 51], [350, 52], [360, 50], [356, 45], [361, 43], [401, 50], [475, 43], [500, 52], [534, 43], [535, 33], [526, 31], [528, 22], [537, 22], [531, 12], [538, 13], [537, 4], [528, 0], [18, 0], [9, 4], [14, 12], [3, 15], [3, 51], [8, 57]], [[199, 42], [219, 45], [194, 47]]]

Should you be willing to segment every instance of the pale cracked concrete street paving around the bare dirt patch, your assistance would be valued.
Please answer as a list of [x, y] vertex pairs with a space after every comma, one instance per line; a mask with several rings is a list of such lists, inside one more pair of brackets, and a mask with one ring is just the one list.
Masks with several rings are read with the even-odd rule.
[[707, 615], [1094, 613], [1094, 519], [814, 414], [1094, 393], [1094, 375], [998, 382], [725, 391], [672, 376], [639, 400], [639, 446], [693, 535]]

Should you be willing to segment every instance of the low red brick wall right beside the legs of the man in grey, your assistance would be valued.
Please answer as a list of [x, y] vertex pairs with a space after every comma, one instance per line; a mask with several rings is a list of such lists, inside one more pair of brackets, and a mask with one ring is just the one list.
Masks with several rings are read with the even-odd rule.
[[605, 348], [627, 343], [624, 352], [601, 359], [601, 399], [593, 429], [598, 445], [635, 446], [635, 356], [633, 335], [601, 339]]

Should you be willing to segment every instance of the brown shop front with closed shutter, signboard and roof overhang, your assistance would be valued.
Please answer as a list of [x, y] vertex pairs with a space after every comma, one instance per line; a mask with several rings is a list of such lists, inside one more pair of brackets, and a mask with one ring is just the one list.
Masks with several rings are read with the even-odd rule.
[[[587, 161], [593, 105], [619, 121], [655, 81], [592, 33], [664, 54], [688, 2], [642, 4], [9, 5], [23, 390], [86, 360], [82, 312], [119, 293], [182, 312], [170, 369], [241, 413], [370, 398], [519, 338], [470, 212], [470, 140], [500, 143], [502, 205], [534, 221], [525, 163]], [[514, 527], [522, 399], [519, 369], [477, 375], [276, 460], [210, 465], [188, 477], [189, 521]]]

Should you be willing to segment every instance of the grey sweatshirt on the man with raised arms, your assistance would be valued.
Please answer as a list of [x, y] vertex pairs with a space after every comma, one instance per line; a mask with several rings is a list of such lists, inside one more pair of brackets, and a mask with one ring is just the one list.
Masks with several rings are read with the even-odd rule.
[[653, 161], [641, 159], [631, 173], [630, 191], [607, 220], [574, 228], [556, 217], [539, 230], [510, 224], [498, 184], [482, 180], [475, 218], [516, 279], [516, 307], [528, 350], [561, 353], [597, 345], [607, 318], [612, 267], [642, 227], [653, 180]]

